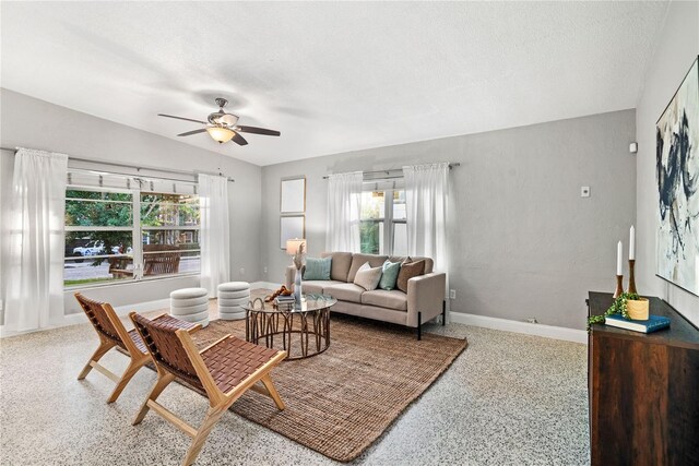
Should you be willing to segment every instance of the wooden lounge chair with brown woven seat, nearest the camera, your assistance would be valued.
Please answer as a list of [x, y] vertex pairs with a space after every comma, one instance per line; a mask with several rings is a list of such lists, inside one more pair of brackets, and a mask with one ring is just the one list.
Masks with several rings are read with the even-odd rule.
[[[157, 368], [157, 381], [143, 402], [133, 425], [141, 422], [152, 408], [191, 437], [192, 443], [182, 465], [189, 466], [197, 459], [206, 437], [221, 416], [248, 389], [270, 396], [279, 409], [284, 409], [284, 402], [274, 389], [270, 371], [286, 357], [286, 351], [258, 346], [232, 335], [226, 335], [199, 351], [190, 334], [201, 328], [201, 325], [182, 330], [167, 321], [151, 321], [135, 312], [131, 312], [129, 316]], [[209, 410], [199, 430], [156, 402], [163, 390], [175, 379], [204, 392], [209, 398]], [[256, 385], [258, 382], [263, 386]]]

